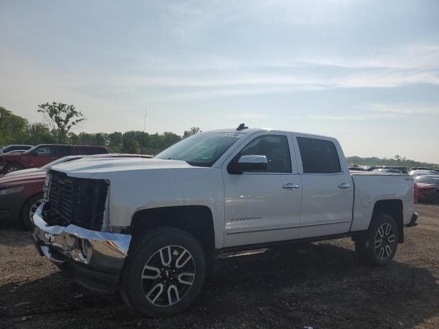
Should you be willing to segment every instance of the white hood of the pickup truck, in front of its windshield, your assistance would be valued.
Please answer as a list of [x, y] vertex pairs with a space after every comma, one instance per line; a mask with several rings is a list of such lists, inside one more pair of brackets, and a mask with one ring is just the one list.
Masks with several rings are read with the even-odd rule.
[[145, 158], [82, 158], [71, 162], [56, 164], [51, 170], [67, 173], [71, 177], [91, 178], [97, 173], [120, 171], [143, 171], [147, 169], [193, 168], [185, 161]]

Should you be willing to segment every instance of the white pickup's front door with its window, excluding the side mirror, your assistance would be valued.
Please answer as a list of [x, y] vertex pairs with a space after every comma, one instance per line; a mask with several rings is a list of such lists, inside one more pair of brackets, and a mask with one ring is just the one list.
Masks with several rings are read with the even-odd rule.
[[[266, 156], [267, 170], [228, 173], [227, 165], [244, 155]], [[222, 170], [224, 247], [298, 238], [302, 188], [291, 136], [261, 132], [235, 151]]]

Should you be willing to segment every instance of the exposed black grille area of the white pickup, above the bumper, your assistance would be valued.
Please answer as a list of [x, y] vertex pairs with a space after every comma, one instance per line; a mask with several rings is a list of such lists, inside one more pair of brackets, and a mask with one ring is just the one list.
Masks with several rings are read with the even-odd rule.
[[49, 171], [49, 194], [44, 219], [49, 225], [74, 224], [101, 230], [108, 184], [104, 180], [72, 178]]

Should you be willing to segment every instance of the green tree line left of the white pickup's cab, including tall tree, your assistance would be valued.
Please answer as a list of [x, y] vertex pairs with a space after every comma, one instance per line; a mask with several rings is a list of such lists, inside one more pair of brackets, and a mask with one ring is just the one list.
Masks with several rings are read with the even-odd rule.
[[75, 106], [63, 103], [44, 103], [38, 106], [46, 122], [29, 123], [27, 119], [0, 107], [0, 145], [10, 144], [71, 144], [104, 146], [114, 153], [158, 154], [163, 149], [201, 132], [191, 127], [183, 136], [174, 132], [148, 134], [139, 130], [128, 132], [73, 132], [73, 128], [86, 120]]

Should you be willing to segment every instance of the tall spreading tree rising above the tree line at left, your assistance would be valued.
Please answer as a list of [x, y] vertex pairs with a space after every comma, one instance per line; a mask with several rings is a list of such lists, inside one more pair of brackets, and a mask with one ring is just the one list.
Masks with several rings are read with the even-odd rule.
[[38, 105], [37, 112], [43, 114], [51, 130], [56, 132], [58, 143], [65, 142], [71, 128], [87, 119], [75, 106], [55, 101]]

